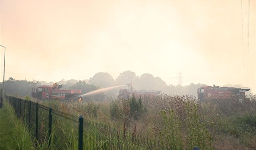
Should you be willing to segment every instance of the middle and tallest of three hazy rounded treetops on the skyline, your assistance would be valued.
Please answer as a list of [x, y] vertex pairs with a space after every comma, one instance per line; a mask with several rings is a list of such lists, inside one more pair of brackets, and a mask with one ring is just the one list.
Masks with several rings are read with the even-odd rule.
[[132, 71], [124, 71], [122, 72], [116, 79], [116, 84], [117, 85], [122, 85], [122, 84], [128, 84], [130, 82], [134, 82], [135, 80], [138, 79], [138, 76], [136, 76], [135, 72]]

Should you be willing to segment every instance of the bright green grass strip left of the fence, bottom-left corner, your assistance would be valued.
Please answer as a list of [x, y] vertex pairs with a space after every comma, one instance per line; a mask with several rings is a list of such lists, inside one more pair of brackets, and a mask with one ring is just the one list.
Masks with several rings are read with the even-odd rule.
[[0, 109], [0, 149], [35, 149], [26, 125], [17, 118], [13, 107], [7, 101], [4, 101]]

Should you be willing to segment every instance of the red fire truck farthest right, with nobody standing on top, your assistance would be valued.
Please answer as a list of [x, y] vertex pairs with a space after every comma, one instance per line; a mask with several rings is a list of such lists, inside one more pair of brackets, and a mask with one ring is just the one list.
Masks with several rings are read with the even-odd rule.
[[250, 89], [247, 87], [219, 87], [219, 86], [204, 86], [197, 90], [197, 96], [199, 100], [204, 99], [244, 99], [245, 92]]

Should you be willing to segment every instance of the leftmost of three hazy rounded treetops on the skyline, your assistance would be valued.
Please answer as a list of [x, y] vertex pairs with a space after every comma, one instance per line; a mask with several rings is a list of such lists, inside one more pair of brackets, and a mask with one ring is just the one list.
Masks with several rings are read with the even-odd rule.
[[99, 72], [90, 78], [89, 84], [99, 87], [110, 87], [115, 85], [115, 80], [107, 72]]

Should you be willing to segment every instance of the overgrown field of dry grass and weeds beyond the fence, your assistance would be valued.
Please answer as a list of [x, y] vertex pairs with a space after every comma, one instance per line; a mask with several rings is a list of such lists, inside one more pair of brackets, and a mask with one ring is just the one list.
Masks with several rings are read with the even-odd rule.
[[255, 149], [256, 96], [243, 101], [205, 100], [189, 95], [109, 98], [96, 103], [39, 101], [53, 109], [115, 126], [128, 135], [150, 137], [164, 149]]

